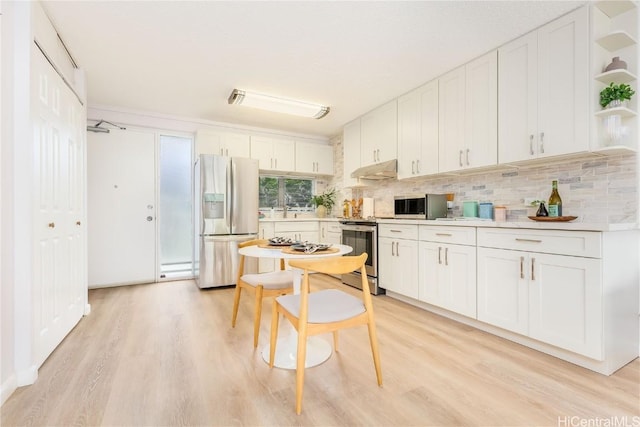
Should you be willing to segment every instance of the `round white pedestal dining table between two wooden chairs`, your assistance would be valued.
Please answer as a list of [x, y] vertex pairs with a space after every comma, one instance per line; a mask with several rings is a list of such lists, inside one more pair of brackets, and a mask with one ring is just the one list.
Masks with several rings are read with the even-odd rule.
[[[315, 252], [313, 254], [287, 253], [282, 252], [281, 248], [264, 248], [259, 246], [247, 246], [238, 250], [241, 255], [253, 258], [284, 258], [284, 259], [319, 259], [342, 256], [353, 251], [351, 246], [332, 245], [332, 248], [338, 249], [337, 252]], [[302, 282], [302, 270], [297, 268], [291, 269], [293, 275], [293, 293], [300, 293], [300, 283]], [[282, 330], [282, 328], [280, 328]], [[298, 333], [295, 329], [283, 338], [278, 339], [276, 346], [276, 354], [273, 365], [283, 369], [296, 369], [296, 356], [298, 351]], [[319, 337], [307, 338], [307, 357], [305, 367], [310, 368], [317, 366], [331, 357], [331, 344]], [[262, 349], [262, 359], [269, 363], [269, 344]]]

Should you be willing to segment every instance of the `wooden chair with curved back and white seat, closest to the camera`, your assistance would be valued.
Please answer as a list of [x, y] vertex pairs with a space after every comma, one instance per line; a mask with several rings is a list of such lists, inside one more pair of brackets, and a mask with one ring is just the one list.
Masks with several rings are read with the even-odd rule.
[[[278, 337], [279, 314], [282, 313], [298, 331], [296, 360], [296, 413], [298, 415], [302, 412], [302, 389], [304, 387], [304, 367], [308, 336], [333, 332], [334, 350], [338, 351], [339, 329], [367, 325], [376, 377], [378, 385], [382, 385], [382, 370], [380, 368], [373, 305], [364, 267], [366, 259], [367, 254], [363, 253], [359, 256], [350, 257], [289, 260], [291, 267], [304, 270], [304, 276], [299, 295], [280, 296], [273, 302], [269, 366], [273, 367], [276, 339]], [[337, 289], [325, 289], [310, 293], [310, 271], [326, 274], [344, 274], [358, 269], [362, 274], [362, 298], [356, 298]]]

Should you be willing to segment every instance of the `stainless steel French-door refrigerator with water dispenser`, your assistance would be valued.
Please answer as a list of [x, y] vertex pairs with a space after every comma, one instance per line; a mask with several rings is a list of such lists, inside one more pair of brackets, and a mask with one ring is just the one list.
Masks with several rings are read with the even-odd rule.
[[[238, 243], [258, 236], [258, 161], [201, 154], [194, 167], [196, 263], [200, 288], [233, 285]], [[245, 272], [257, 271], [248, 259]]]

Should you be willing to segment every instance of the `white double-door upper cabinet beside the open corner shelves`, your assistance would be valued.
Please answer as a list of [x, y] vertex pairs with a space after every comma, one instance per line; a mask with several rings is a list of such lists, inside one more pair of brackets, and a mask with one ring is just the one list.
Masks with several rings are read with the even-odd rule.
[[580, 8], [499, 49], [500, 163], [588, 150], [588, 18]]

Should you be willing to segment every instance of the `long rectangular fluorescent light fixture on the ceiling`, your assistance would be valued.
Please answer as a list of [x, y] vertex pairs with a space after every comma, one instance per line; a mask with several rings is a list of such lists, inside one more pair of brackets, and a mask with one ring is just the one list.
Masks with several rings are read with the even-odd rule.
[[262, 95], [260, 93], [247, 92], [234, 89], [229, 96], [229, 104], [244, 105], [246, 107], [260, 108], [276, 113], [293, 114], [294, 116], [311, 117], [321, 119], [329, 114], [329, 107], [309, 102], [295, 101], [293, 99], [276, 98], [275, 96]]

